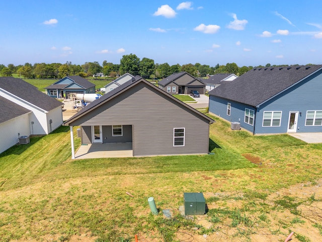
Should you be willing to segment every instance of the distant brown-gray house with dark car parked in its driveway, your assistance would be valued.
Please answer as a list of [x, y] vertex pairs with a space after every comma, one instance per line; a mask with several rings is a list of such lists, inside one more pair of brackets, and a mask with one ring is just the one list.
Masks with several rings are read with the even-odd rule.
[[187, 72], [174, 73], [158, 82], [159, 88], [169, 94], [189, 94], [191, 90], [197, 90], [205, 94], [205, 84], [202, 79], [196, 78]]

